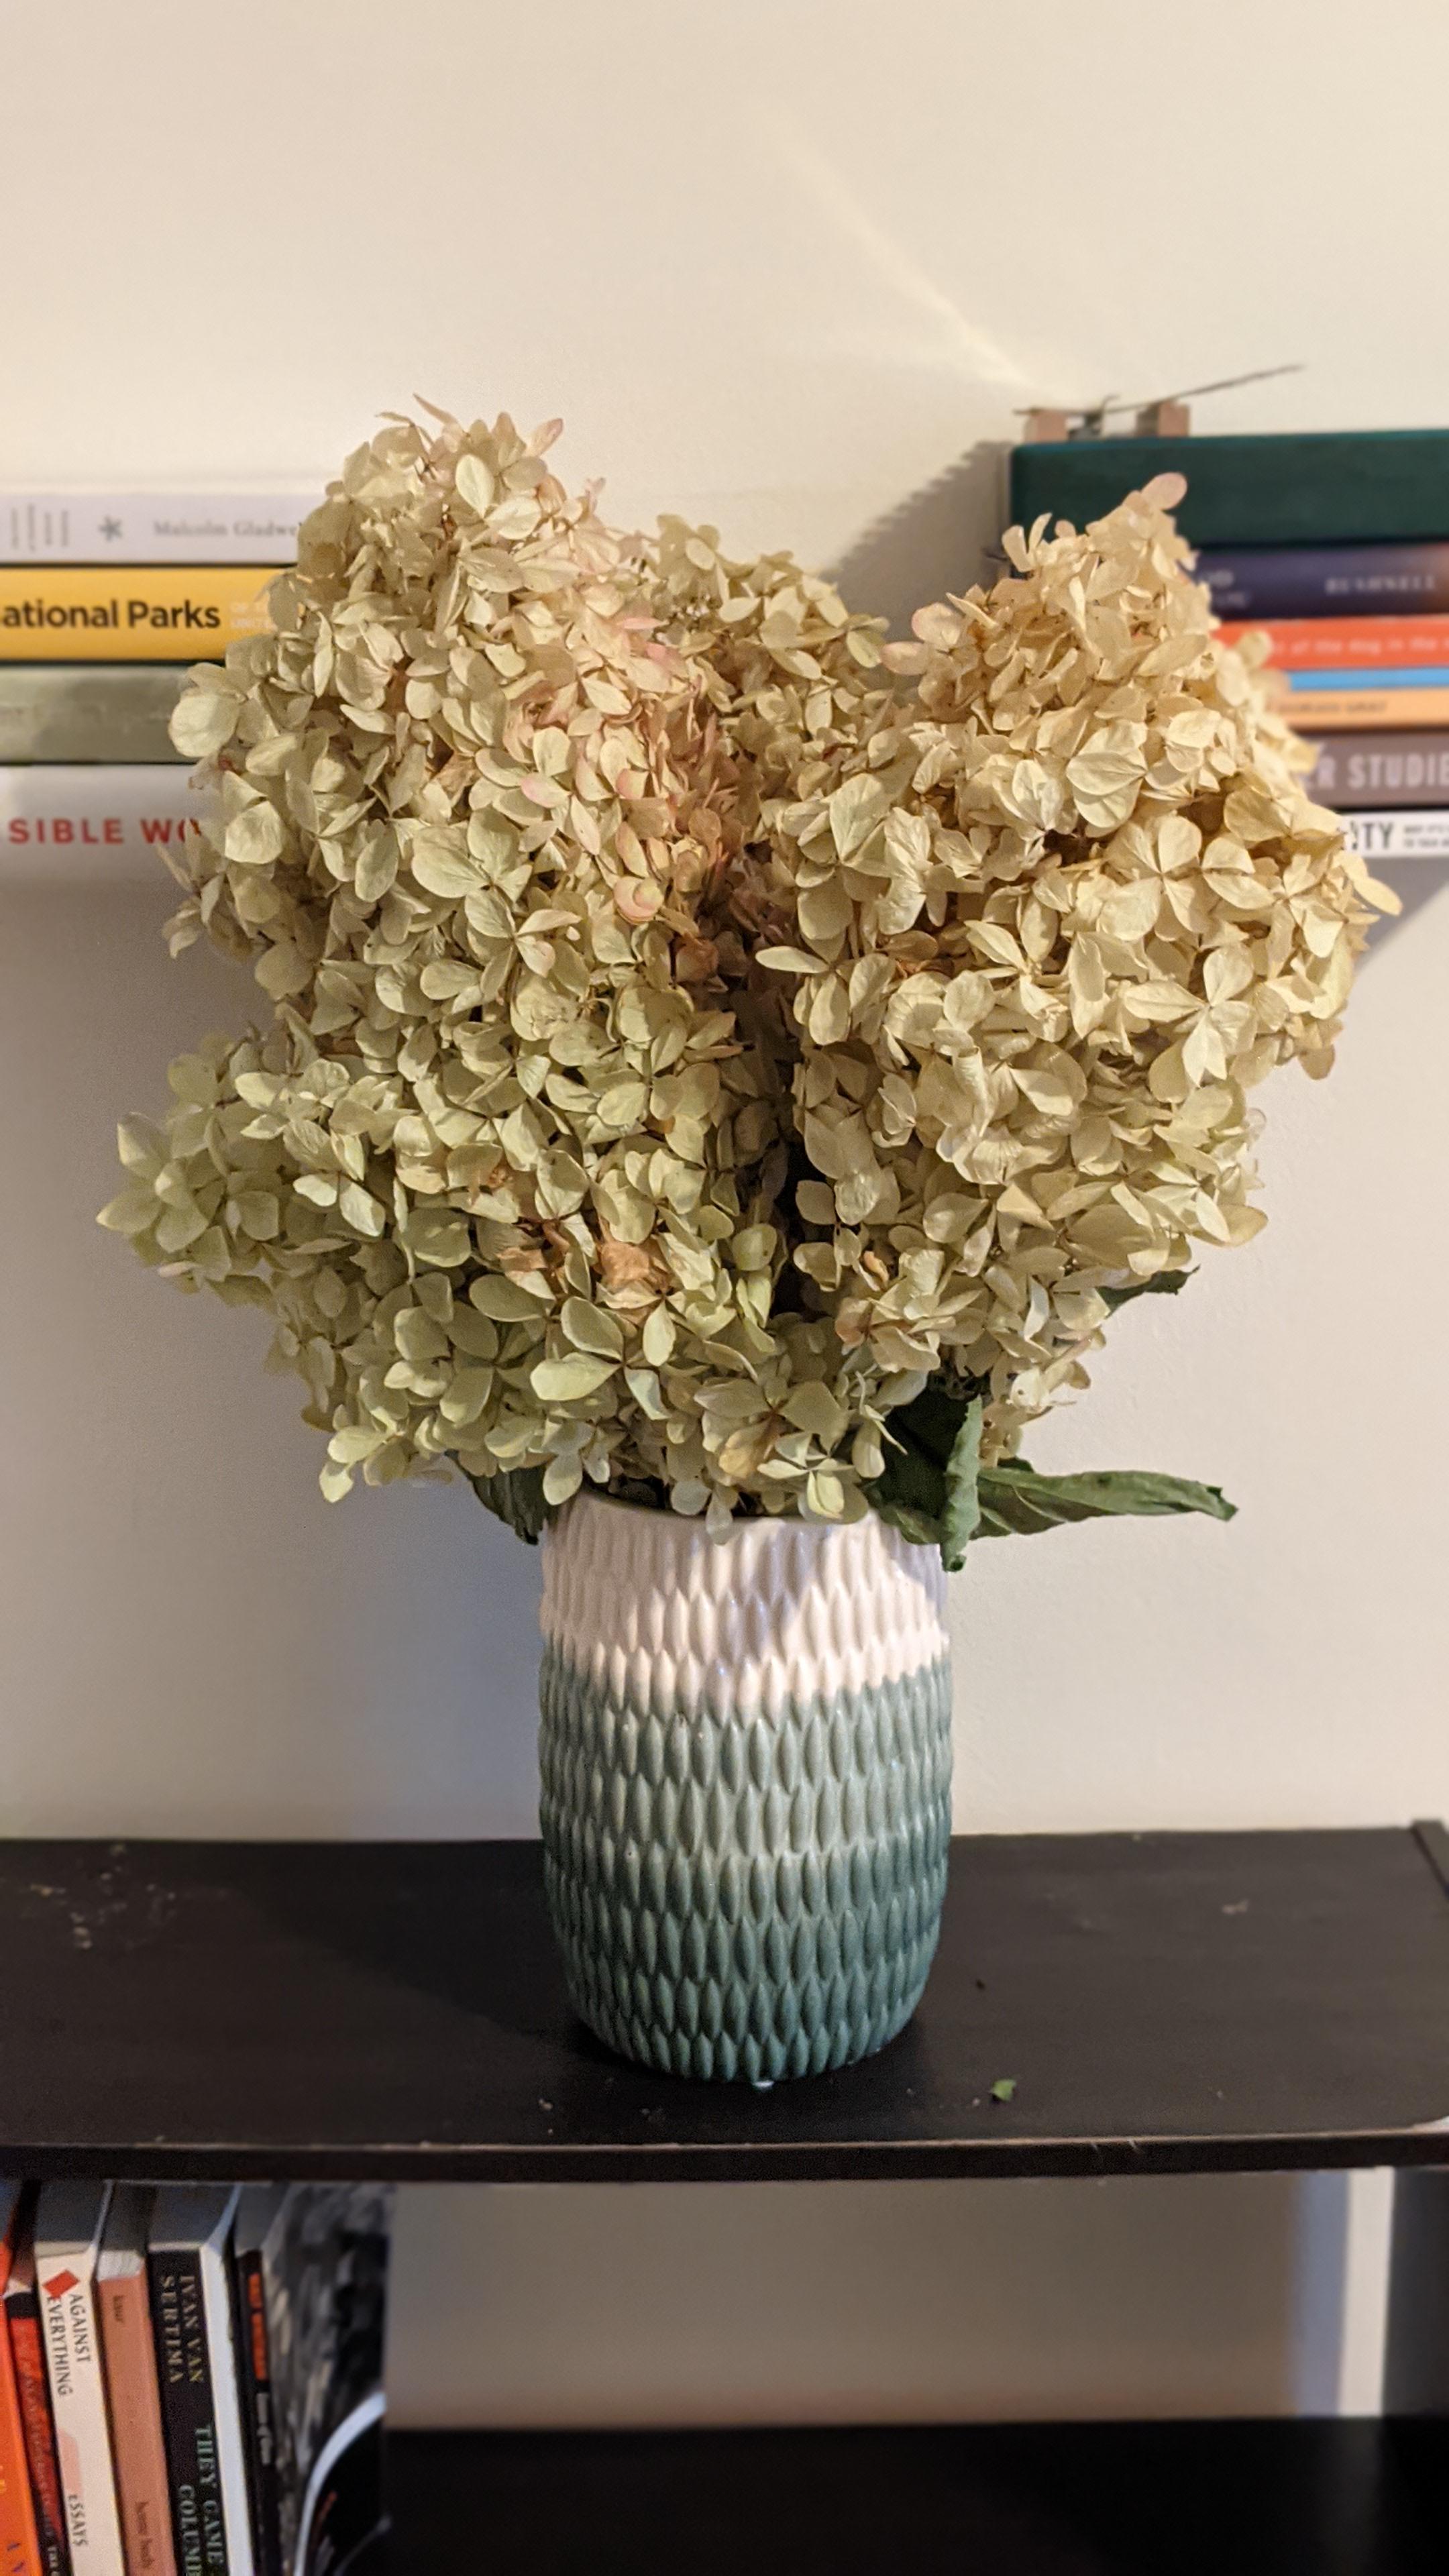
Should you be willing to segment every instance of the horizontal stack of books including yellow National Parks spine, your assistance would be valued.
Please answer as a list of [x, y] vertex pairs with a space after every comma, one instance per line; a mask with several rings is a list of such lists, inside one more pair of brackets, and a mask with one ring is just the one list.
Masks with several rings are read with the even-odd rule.
[[266, 626], [309, 507], [0, 495], [0, 873], [126, 873], [180, 835], [180, 680]]

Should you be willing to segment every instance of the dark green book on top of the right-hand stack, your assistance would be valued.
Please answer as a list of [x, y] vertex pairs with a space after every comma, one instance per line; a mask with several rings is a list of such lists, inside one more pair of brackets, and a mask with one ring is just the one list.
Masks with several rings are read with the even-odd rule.
[[1114, 510], [1152, 474], [1186, 474], [1194, 546], [1379, 546], [1449, 536], [1449, 430], [1274, 438], [1067, 438], [1011, 451], [1011, 518]]

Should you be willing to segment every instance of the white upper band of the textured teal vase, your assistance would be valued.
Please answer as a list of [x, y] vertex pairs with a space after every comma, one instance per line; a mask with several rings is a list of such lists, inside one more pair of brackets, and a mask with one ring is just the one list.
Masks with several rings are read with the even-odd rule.
[[877, 1520], [740, 1520], [578, 1494], [544, 1533], [549, 1646], [619, 1705], [717, 1716], [879, 1690], [949, 1659], [946, 1577]]

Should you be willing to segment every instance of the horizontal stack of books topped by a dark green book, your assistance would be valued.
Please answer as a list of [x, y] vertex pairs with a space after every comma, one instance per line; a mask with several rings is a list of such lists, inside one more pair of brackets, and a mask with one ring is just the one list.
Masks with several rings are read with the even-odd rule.
[[1446, 858], [1449, 430], [1021, 446], [1013, 518], [1080, 526], [1165, 471], [1225, 639], [1269, 636], [1315, 801], [1364, 858]]

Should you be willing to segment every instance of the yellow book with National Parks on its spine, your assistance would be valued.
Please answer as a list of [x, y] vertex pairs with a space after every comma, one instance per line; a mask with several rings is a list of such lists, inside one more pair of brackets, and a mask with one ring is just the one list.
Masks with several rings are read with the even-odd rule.
[[278, 564], [0, 564], [0, 662], [219, 662]]

